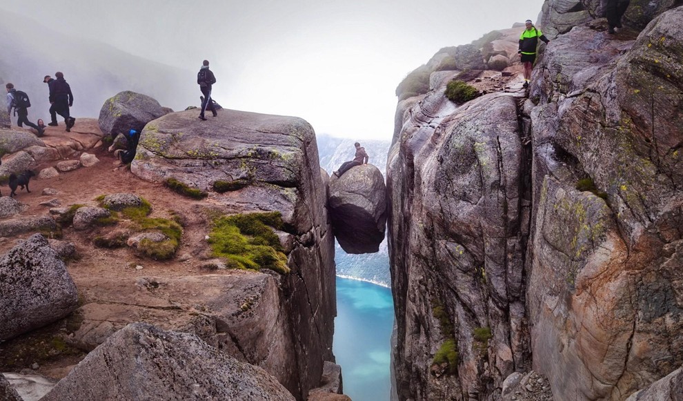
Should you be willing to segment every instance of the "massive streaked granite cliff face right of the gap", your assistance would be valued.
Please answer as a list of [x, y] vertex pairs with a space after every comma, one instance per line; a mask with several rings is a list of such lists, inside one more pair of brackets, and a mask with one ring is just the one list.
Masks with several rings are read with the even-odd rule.
[[529, 92], [457, 105], [448, 80], [490, 73], [442, 71], [399, 102], [400, 399], [499, 399], [534, 369], [557, 400], [624, 400], [683, 363], [683, 8], [632, 1], [610, 36], [597, 3], [546, 1]]

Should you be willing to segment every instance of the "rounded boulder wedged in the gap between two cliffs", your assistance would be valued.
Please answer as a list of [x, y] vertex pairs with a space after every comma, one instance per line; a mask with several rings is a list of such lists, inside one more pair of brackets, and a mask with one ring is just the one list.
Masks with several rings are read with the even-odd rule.
[[374, 253], [386, 230], [386, 186], [372, 164], [355, 166], [330, 180], [328, 208], [339, 245], [346, 253]]

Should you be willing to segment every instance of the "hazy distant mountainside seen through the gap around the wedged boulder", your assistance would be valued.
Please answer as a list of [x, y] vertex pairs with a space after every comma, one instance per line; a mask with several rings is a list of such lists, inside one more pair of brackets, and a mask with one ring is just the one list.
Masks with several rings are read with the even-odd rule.
[[[328, 174], [337, 170], [342, 163], [353, 159], [355, 139], [317, 135], [316, 141], [320, 166]], [[386, 177], [386, 155], [389, 151], [390, 141], [359, 139], [359, 142], [370, 156], [370, 164], [377, 166], [382, 171], [382, 175]], [[386, 239], [379, 246], [379, 252], [364, 255], [349, 255], [344, 252], [339, 244], [335, 243], [335, 262], [337, 263], [337, 275], [387, 287], [391, 284]]]

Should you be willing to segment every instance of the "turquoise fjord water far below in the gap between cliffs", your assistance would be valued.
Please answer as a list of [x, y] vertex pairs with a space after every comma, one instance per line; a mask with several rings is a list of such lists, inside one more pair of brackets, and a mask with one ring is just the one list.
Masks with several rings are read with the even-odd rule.
[[351, 400], [389, 400], [393, 324], [389, 288], [337, 277], [333, 351], [342, 366], [344, 394]]

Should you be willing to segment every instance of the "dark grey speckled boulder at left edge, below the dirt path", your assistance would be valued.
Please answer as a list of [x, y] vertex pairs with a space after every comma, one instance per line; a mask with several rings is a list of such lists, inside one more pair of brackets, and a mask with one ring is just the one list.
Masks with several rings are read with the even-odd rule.
[[77, 307], [66, 266], [40, 234], [0, 260], [0, 340], [55, 322]]

